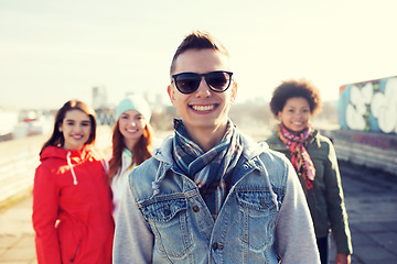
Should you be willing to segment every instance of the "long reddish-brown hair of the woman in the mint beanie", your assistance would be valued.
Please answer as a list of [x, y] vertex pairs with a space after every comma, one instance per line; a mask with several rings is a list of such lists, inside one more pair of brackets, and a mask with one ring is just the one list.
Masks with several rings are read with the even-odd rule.
[[[143, 134], [137, 142], [137, 144], [132, 148], [132, 158], [131, 166], [133, 164], [139, 165], [149, 157], [151, 157], [152, 152], [152, 128], [149, 123], [143, 129]], [[112, 178], [116, 176], [118, 170], [121, 168], [121, 156], [122, 152], [126, 148], [126, 144], [124, 141], [124, 136], [120, 133], [119, 130], [119, 120], [115, 123], [115, 127], [112, 129], [112, 156], [109, 161], [109, 180], [111, 183]], [[130, 166], [130, 167], [131, 167]]]

